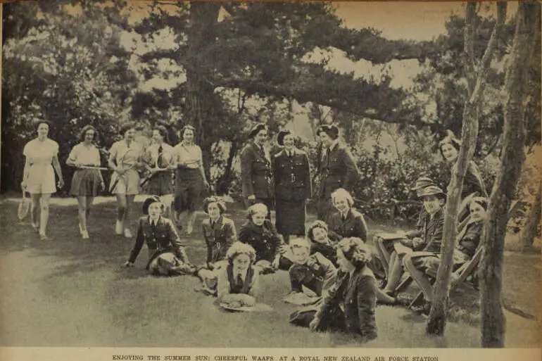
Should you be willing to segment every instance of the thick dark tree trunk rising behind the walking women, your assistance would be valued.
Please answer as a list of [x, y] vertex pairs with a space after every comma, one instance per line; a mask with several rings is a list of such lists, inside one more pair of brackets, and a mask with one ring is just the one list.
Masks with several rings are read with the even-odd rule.
[[[214, 27], [218, 22], [220, 3], [192, 1], [187, 29], [187, 104], [184, 124], [196, 127], [196, 144], [203, 153], [206, 175], [210, 175], [212, 142], [206, 136], [215, 119], [214, 86], [208, 82], [210, 66], [206, 61], [206, 48], [215, 41]], [[206, 66], [207, 65], [207, 66]]]

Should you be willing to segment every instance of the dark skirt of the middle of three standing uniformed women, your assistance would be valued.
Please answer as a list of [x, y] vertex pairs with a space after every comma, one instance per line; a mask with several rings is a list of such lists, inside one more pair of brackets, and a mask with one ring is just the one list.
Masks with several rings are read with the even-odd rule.
[[305, 234], [305, 200], [282, 201], [275, 203], [277, 220], [275, 226], [279, 234]]

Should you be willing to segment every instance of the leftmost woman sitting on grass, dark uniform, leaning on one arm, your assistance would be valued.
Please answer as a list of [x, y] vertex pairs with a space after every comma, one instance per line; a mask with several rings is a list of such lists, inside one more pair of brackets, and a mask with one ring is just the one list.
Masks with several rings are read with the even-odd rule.
[[147, 198], [143, 203], [144, 216], [139, 218], [135, 245], [125, 266], [134, 266], [143, 243], [146, 243], [149, 248], [146, 269], [151, 274], [193, 274], [196, 267], [191, 265], [173, 222], [161, 216], [164, 208], [158, 196]]

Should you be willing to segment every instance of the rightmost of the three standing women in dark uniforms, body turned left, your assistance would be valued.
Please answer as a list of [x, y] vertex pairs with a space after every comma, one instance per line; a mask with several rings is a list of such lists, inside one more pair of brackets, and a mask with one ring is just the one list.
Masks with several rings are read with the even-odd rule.
[[333, 213], [332, 193], [339, 188], [352, 191], [358, 179], [358, 167], [348, 149], [339, 143], [339, 129], [334, 125], [322, 125], [316, 130], [322, 142], [320, 160], [320, 188], [318, 189], [317, 217], [328, 222]]

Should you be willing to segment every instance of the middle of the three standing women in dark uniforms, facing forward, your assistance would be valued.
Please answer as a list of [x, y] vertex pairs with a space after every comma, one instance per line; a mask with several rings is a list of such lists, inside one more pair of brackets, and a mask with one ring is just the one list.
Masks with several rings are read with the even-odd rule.
[[277, 143], [284, 146], [273, 159], [277, 232], [289, 243], [290, 234], [305, 234], [305, 201], [312, 193], [308, 156], [294, 146], [289, 130], [279, 132]]

